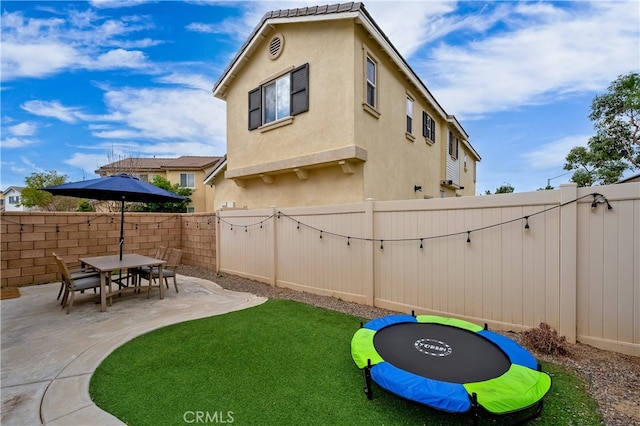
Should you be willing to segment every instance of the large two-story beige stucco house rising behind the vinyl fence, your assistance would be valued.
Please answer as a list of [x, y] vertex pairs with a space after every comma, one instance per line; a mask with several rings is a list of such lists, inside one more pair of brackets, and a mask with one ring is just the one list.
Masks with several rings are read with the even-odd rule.
[[215, 209], [475, 194], [480, 156], [362, 3], [267, 13], [213, 87]]

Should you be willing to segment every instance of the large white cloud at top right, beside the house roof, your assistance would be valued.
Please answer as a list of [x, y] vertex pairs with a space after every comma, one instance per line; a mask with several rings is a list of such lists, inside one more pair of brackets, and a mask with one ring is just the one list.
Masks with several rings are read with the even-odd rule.
[[[439, 44], [418, 67], [456, 115], [509, 110], [567, 93], [601, 90], [637, 69], [637, 2], [518, 3], [505, 30]], [[500, 11], [504, 16], [504, 10]], [[522, 22], [521, 22], [522, 21]]]

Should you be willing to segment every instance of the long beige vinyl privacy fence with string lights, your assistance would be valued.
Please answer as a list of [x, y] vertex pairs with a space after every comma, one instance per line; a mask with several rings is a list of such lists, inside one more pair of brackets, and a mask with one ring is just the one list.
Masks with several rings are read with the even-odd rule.
[[220, 272], [640, 356], [638, 183], [223, 210], [216, 238]]

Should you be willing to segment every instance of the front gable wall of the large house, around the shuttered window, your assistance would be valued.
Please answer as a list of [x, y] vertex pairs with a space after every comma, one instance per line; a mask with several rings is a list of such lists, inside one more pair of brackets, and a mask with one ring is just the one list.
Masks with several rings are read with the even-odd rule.
[[[350, 31], [350, 24], [345, 21], [290, 24], [277, 27], [257, 46], [227, 92], [229, 170], [352, 143], [353, 81], [345, 75], [353, 74], [349, 66], [353, 52], [344, 42]], [[284, 48], [276, 60], [270, 60], [267, 44], [277, 32], [284, 37]], [[309, 112], [293, 117], [290, 125], [266, 132], [249, 131], [248, 92], [307, 62]]]

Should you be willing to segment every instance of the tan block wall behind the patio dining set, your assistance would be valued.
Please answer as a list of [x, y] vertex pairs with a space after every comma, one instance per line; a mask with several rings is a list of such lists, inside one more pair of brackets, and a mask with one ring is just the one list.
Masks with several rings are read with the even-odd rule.
[[[72, 261], [119, 253], [120, 213], [3, 212], [2, 287], [59, 281], [51, 256]], [[124, 253], [153, 255], [156, 247], [183, 250], [182, 263], [215, 269], [213, 214], [125, 213]]]

